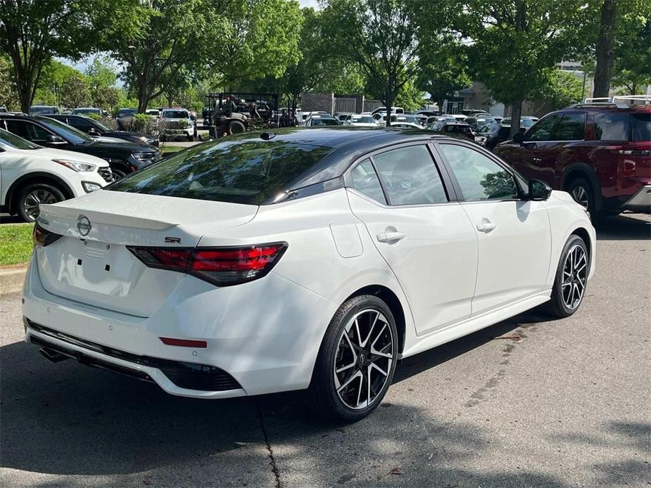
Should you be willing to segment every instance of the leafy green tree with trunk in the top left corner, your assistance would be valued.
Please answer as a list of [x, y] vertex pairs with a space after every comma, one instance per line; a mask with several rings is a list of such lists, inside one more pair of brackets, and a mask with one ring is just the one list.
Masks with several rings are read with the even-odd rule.
[[0, 0], [0, 49], [13, 64], [23, 112], [54, 56], [77, 59], [134, 27], [131, 0]]

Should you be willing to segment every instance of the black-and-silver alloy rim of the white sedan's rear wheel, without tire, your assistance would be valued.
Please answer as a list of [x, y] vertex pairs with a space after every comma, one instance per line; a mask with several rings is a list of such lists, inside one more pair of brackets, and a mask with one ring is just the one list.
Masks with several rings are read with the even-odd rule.
[[355, 314], [343, 328], [334, 361], [334, 385], [349, 409], [372, 405], [386, 387], [394, 349], [386, 317], [375, 309]]

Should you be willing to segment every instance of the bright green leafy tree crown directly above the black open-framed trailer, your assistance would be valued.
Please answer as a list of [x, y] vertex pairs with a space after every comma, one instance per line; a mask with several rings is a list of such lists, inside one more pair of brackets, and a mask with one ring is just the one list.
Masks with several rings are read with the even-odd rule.
[[233, 0], [211, 25], [210, 59], [224, 85], [234, 90], [245, 79], [282, 77], [299, 59], [301, 10], [296, 0]]

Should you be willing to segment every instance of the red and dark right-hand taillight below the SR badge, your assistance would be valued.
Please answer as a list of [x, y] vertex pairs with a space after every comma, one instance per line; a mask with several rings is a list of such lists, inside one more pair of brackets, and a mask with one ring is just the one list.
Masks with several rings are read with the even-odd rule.
[[181, 271], [215, 285], [230, 286], [269, 273], [285, 252], [287, 243], [237, 248], [127, 248], [147, 267]]

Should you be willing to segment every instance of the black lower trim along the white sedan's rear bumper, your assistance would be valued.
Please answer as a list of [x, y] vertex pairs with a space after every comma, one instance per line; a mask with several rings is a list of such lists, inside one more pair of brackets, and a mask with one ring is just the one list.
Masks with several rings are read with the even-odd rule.
[[[179, 388], [208, 392], [223, 392], [227, 390], [241, 389], [241, 385], [237, 383], [237, 380], [235, 378], [229, 375], [229, 373], [226, 371], [215, 366], [208, 366], [207, 364], [187, 363], [184, 361], [172, 361], [170, 359], [160, 359], [149, 356], [139, 356], [138, 354], [132, 354], [131, 352], [125, 352], [120, 349], [97, 344], [96, 342], [91, 342], [86, 339], [77, 338], [74, 335], [61, 333], [58, 330], [53, 330], [38, 323], [34, 323], [27, 318], [25, 318], [25, 322], [27, 323], [27, 326], [33, 330], [36, 330], [37, 332], [51, 338], [55, 338], [63, 342], [68, 342], [68, 344], [77, 345], [79, 347], [91, 349], [92, 351], [96, 352], [101, 352], [101, 354], [106, 354], [106, 356], [122, 359], [123, 361], [129, 361], [130, 363], [139, 364], [141, 366], [150, 366], [151, 368], [160, 369], [160, 371], [162, 371], [163, 374], [167, 376], [170, 381], [177, 385]], [[109, 369], [110, 371], [127, 374], [129, 376], [137, 378], [141, 375], [144, 375], [146, 378], [138, 379], [153, 381], [149, 375], [143, 373], [142, 371], [138, 371], [137, 369], [116, 365], [110, 361], [96, 359], [89, 356], [88, 354], [77, 352], [74, 349], [68, 349], [66, 347], [54, 345], [52, 342], [42, 340], [41, 338], [34, 337], [33, 335], [31, 340], [34, 344], [46, 347], [47, 349], [53, 349], [56, 352], [77, 359], [77, 361], [80, 361], [82, 364]]]

